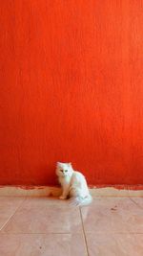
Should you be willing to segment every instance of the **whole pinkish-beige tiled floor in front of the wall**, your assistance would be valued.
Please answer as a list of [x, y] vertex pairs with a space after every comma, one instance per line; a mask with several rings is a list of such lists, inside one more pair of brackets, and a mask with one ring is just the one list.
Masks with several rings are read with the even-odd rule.
[[0, 197], [0, 256], [142, 256], [143, 198]]

